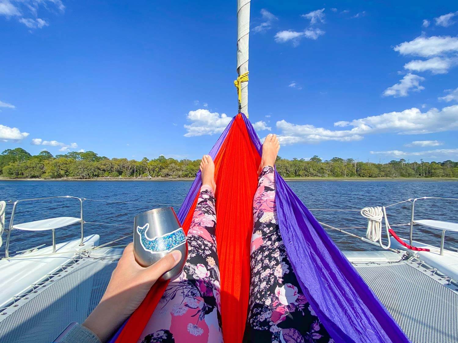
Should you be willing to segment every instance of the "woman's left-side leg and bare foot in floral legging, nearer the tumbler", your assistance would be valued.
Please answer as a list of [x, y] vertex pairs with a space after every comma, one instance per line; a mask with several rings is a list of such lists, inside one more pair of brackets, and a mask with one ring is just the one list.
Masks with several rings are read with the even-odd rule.
[[214, 165], [201, 163], [202, 183], [188, 231], [188, 258], [180, 276], [171, 281], [139, 342], [223, 342]]

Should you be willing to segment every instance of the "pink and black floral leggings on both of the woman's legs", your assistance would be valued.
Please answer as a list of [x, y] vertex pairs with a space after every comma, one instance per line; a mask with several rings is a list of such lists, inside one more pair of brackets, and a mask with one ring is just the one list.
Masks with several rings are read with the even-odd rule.
[[[301, 293], [280, 236], [274, 170], [266, 166], [253, 199], [251, 286], [244, 342], [333, 342]], [[204, 185], [188, 231], [188, 259], [169, 283], [139, 343], [223, 342], [215, 198]]]

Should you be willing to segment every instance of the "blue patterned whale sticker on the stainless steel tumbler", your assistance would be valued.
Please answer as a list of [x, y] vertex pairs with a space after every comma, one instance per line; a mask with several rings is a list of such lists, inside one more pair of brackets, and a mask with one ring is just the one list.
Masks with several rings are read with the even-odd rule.
[[151, 253], [168, 252], [186, 242], [185, 231], [182, 228], [178, 228], [162, 236], [153, 237], [152, 239], [146, 236], [148, 228], [149, 223], [143, 226], [137, 226], [137, 233], [140, 235], [140, 243], [143, 249]]

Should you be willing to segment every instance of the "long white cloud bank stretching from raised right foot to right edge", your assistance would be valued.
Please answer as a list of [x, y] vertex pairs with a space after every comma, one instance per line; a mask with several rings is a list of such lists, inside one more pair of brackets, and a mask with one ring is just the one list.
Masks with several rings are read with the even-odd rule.
[[351, 127], [346, 130], [317, 128], [313, 125], [298, 125], [285, 120], [276, 123], [280, 130], [278, 139], [282, 144], [318, 143], [328, 140], [349, 142], [363, 139], [366, 134], [426, 134], [458, 130], [458, 105], [431, 108], [422, 113], [418, 108], [402, 112], [383, 113], [377, 116], [338, 121], [335, 127]]

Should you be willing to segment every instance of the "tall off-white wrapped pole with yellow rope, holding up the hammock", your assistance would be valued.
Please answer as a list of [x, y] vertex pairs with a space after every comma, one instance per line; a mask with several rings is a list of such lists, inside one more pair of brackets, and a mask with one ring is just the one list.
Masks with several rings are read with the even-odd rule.
[[[250, 38], [250, 1], [237, 0], [237, 73], [248, 72], [248, 43]], [[239, 112], [248, 117], [248, 81], [240, 84], [242, 99]]]

